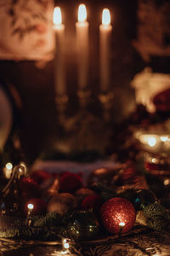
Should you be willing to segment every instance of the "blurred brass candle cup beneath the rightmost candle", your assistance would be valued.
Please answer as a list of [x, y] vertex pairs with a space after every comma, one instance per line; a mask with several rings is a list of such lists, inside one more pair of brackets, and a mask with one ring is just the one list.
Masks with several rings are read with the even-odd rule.
[[98, 97], [103, 109], [104, 119], [105, 121], [109, 121], [111, 119], [111, 108], [113, 106], [114, 94], [111, 91], [101, 92]]

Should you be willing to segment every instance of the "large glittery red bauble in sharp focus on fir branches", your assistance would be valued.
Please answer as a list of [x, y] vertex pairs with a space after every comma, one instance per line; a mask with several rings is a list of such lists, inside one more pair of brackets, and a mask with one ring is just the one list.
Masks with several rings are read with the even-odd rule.
[[106, 201], [101, 207], [100, 214], [105, 229], [111, 233], [126, 233], [133, 228], [136, 219], [133, 204], [120, 197]]

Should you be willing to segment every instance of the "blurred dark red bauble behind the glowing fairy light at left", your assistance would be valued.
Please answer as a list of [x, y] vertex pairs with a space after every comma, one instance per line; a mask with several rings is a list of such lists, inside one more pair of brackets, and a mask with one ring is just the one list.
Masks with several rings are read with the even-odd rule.
[[31, 200], [27, 201], [24, 207], [24, 212], [27, 214], [28, 212], [28, 205], [33, 205], [33, 209], [31, 211], [32, 215], [39, 215], [44, 214], [46, 212], [47, 204], [40, 198], [32, 198]]

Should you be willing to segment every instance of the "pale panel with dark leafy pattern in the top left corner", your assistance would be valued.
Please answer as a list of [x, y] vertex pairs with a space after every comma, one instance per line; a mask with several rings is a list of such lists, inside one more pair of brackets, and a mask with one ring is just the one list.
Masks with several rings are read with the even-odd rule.
[[0, 59], [53, 57], [53, 0], [0, 1]]

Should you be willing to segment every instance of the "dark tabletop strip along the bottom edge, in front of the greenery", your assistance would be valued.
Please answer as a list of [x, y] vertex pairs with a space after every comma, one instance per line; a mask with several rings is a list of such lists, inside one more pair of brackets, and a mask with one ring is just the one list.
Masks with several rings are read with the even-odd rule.
[[[137, 232], [137, 233], [136, 233]], [[70, 254], [61, 254], [59, 244], [40, 244], [32, 241], [0, 241], [2, 256], [140, 256], [140, 255], [170, 255], [170, 234], [142, 229], [134, 230], [127, 236], [107, 238], [98, 242], [84, 242], [71, 246]]]

